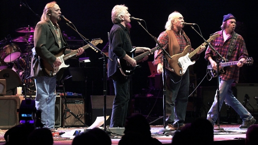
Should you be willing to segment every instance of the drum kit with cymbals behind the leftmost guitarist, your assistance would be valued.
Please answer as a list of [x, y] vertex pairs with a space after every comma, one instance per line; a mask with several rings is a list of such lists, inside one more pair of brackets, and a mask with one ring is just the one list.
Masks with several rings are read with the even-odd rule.
[[[22, 83], [25, 84], [28, 92], [36, 91], [35, 85], [31, 83], [32, 80], [30, 79], [31, 50], [34, 47], [33, 33], [35, 27], [28, 26], [16, 29], [15, 31], [25, 33], [25, 36], [0, 41], [0, 45], [2, 45], [2, 47], [0, 47], [0, 79], [6, 79], [6, 95], [14, 95], [14, 91], [10, 92], [9, 90], [20, 87]], [[20, 42], [26, 42], [26, 53], [22, 54], [17, 44]], [[12, 76], [6, 77], [7, 73]]]

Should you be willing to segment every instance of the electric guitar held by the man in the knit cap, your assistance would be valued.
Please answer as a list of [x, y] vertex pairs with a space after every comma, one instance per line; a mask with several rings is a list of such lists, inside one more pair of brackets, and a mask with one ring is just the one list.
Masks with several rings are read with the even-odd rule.
[[[215, 58], [215, 57], [213, 57], [213, 58]], [[221, 66], [221, 69], [219, 70], [219, 72], [224, 73], [225, 72], [224, 67], [237, 65], [237, 62], [246, 64], [246, 65], [252, 65], [254, 60], [253, 60], [252, 57], [249, 57], [244, 61], [232, 61], [232, 62], [225, 62], [224, 59], [219, 59], [219, 66]], [[211, 64], [207, 66], [207, 70], [208, 70], [211, 77], [217, 77], [217, 70], [213, 70]]]

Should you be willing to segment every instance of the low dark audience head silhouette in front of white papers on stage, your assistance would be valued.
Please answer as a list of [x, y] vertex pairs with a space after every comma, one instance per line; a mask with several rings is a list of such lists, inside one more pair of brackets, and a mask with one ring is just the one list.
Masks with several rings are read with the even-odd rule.
[[75, 136], [72, 145], [111, 145], [111, 139], [104, 130], [96, 127]]

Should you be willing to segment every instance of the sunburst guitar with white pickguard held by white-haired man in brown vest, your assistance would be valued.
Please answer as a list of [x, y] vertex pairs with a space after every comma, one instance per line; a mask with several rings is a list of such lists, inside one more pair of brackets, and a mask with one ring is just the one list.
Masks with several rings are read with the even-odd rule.
[[[207, 40], [207, 42], [214, 40], [218, 36], [219, 36], [219, 34], [210, 36], [210, 38]], [[207, 45], [207, 43], [204, 42], [203, 45], [205, 46], [205, 45]], [[189, 54], [189, 50], [191, 49], [191, 46], [188, 45], [185, 47], [184, 51], [181, 54], [175, 54], [175, 55], [171, 56], [172, 58], [169, 59], [169, 65], [170, 65], [172, 72], [174, 72], [175, 74], [177, 74], [179, 76], [184, 75], [187, 68], [190, 65], [193, 65], [195, 63], [195, 61], [191, 61], [191, 58], [195, 54], [197, 54], [197, 52], [201, 49], [200, 47], [201, 46], [199, 46], [192, 53]]]

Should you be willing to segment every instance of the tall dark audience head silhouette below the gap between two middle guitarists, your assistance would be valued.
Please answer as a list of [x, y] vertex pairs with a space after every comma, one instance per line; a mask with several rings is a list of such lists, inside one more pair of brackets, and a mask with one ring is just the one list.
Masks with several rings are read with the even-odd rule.
[[127, 118], [124, 133], [118, 145], [162, 145], [159, 140], [151, 137], [151, 127], [141, 114]]

